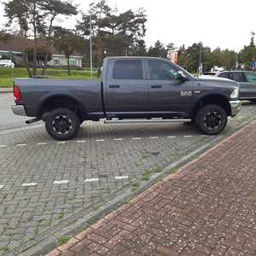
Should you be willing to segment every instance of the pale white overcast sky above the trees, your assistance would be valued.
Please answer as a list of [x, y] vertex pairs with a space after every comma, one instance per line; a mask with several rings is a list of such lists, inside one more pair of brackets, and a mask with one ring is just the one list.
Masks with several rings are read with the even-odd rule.
[[[1, 0], [0, 0], [1, 2]], [[92, 1], [73, 0], [86, 11]], [[108, 0], [119, 11], [143, 7], [147, 11], [146, 44], [160, 40], [164, 44], [203, 42], [212, 49], [241, 49], [248, 44], [251, 32], [256, 32], [255, 0]], [[67, 24], [73, 24], [70, 20]], [[3, 8], [0, 5], [0, 24]]]

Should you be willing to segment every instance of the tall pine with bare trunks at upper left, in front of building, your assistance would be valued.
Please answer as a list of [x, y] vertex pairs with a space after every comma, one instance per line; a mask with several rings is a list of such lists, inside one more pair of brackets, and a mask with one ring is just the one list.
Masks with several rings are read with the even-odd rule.
[[[27, 70], [30, 76], [36, 75], [38, 38], [46, 39], [49, 46], [53, 22], [57, 15], [75, 15], [77, 14], [76, 7], [61, 0], [11, 0], [4, 4], [5, 14], [9, 18], [8, 25], [11, 26], [18, 22], [21, 35], [32, 33], [34, 40], [32, 73], [28, 68]], [[23, 31], [25, 33], [22, 33]], [[46, 60], [47, 55], [45, 55], [45, 63]]]

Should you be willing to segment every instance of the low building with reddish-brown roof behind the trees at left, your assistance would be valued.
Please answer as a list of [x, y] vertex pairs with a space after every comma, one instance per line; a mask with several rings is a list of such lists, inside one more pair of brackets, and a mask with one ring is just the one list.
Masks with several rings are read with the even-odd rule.
[[[46, 43], [42, 40], [38, 40], [39, 46], [45, 46]], [[27, 47], [33, 46], [33, 40], [28, 38], [15, 37], [8, 41], [0, 41], [0, 55], [12, 55], [18, 66], [24, 66], [24, 50]], [[62, 53], [55, 49], [53, 46], [49, 47], [49, 51], [52, 54], [52, 60], [47, 63], [49, 67], [67, 67], [67, 58]], [[71, 67], [82, 67], [83, 56], [79, 53], [75, 53], [69, 59]], [[40, 66], [42, 63], [38, 63]]]

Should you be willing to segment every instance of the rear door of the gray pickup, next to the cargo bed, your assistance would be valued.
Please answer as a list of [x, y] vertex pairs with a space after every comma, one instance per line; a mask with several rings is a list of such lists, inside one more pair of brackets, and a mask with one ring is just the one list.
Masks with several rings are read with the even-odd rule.
[[108, 62], [105, 109], [108, 117], [134, 118], [147, 111], [148, 81], [143, 60]]

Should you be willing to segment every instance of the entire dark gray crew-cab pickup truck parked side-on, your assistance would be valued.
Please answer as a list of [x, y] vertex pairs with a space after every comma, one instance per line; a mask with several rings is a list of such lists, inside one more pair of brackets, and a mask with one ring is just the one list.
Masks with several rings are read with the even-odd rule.
[[44, 120], [57, 140], [74, 137], [84, 120], [192, 122], [207, 135], [223, 131], [241, 109], [228, 79], [198, 79], [170, 61], [108, 57], [101, 80], [15, 79], [13, 113]]

